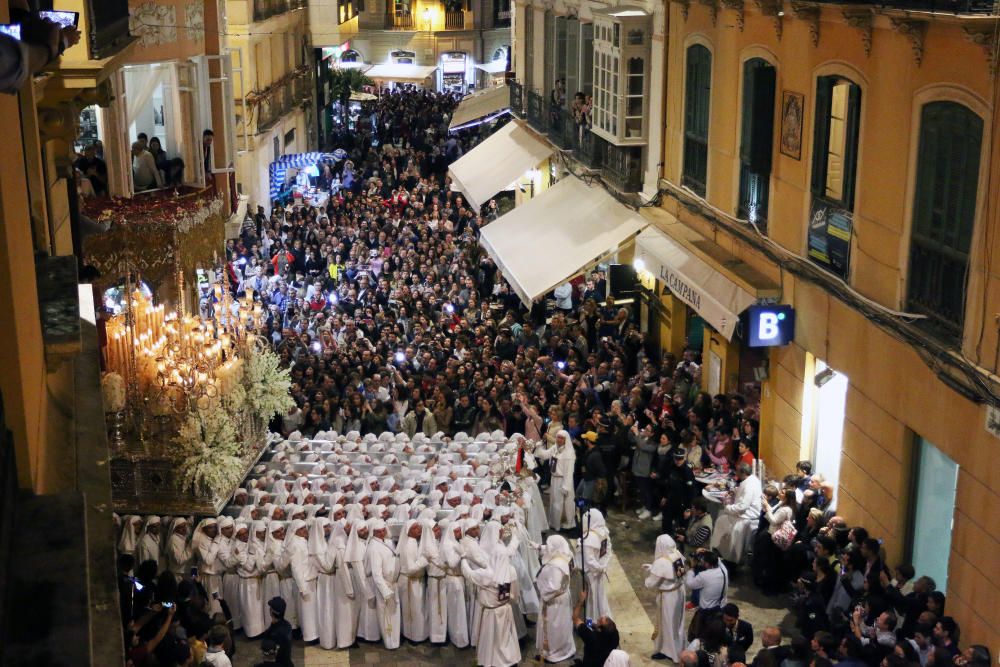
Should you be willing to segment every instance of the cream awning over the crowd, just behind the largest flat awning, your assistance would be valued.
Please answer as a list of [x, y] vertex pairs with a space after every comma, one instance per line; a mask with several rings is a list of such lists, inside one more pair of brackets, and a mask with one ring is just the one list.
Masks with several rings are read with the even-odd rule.
[[448, 169], [455, 187], [473, 210], [552, 155], [552, 146], [517, 121], [456, 160]]

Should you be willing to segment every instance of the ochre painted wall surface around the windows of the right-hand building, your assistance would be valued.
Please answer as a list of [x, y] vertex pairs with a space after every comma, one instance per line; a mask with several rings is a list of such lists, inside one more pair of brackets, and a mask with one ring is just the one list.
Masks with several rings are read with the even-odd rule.
[[[684, 62], [686, 47], [702, 43], [713, 53], [709, 131], [708, 201], [733, 215], [738, 197], [739, 121], [743, 60], [763, 57], [777, 68], [777, 93], [768, 236], [803, 256], [810, 194], [809, 177], [815, 80], [825, 74], [850, 78], [862, 89], [860, 150], [855, 198], [854, 242], [849, 284], [887, 308], [905, 308], [913, 171], [919, 114], [923, 104], [948, 99], [968, 106], [984, 120], [983, 160], [977, 222], [961, 347], [985, 371], [997, 364], [1000, 313], [998, 275], [991, 258], [1000, 250], [995, 185], [1000, 147], [995, 126], [997, 82], [990, 77], [985, 51], [973, 44], [954, 17], [928, 23], [922, 63], [913, 44], [896, 31], [890, 17], [874, 15], [872, 49], [866, 55], [862, 32], [848, 26], [839, 6], [824, 6], [819, 42], [810, 26], [786, 5], [779, 40], [774, 19], [745, 5], [745, 26], [736, 14], [719, 10], [712, 24], [707, 7], [670, 3], [668, 95], [665, 112], [664, 178], [679, 183], [682, 169]], [[898, 18], [898, 17], [894, 17]], [[782, 90], [805, 96], [801, 159], [777, 149]], [[809, 453], [809, 415], [803, 391], [812, 382], [812, 359], [822, 359], [849, 378], [838, 513], [885, 539], [889, 560], [905, 557], [910, 536], [910, 489], [916, 435], [960, 467], [948, 577], [948, 613], [962, 625], [963, 644], [1000, 646], [1000, 622], [991, 611], [1000, 604], [1000, 442], [984, 428], [985, 408], [948, 388], [908, 344], [889, 335], [823, 287], [778, 267], [706, 218], [666, 197], [664, 208], [782, 285], [783, 303], [796, 309], [792, 345], [771, 350], [762, 398], [761, 454], [769, 473], [790, 472]], [[988, 290], [984, 293], [984, 286]], [[707, 359], [706, 359], [707, 363]], [[707, 367], [705, 370], [707, 373]], [[706, 378], [707, 379], [707, 378]], [[806, 412], [808, 412], [806, 410]]]

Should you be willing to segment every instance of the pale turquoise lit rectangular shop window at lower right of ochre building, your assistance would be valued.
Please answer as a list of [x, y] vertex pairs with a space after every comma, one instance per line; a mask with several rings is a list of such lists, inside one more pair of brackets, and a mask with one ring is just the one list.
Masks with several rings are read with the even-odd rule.
[[951, 531], [955, 519], [958, 464], [921, 437], [916, 438], [910, 522], [910, 562], [944, 592], [948, 582]]

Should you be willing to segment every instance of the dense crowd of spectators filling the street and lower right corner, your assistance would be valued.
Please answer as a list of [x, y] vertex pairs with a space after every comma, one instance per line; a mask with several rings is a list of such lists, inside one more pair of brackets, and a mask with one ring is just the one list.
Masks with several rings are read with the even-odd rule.
[[[264, 334], [291, 368], [295, 407], [272, 430], [502, 430], [552, 446], [565, 429], [578, 476], [607, 482], [595, 505], [634, 480], [641, 519], [708, 546], [699, 494], [674, 501], [688, 479], [677, 471], [752, 465], [758, 397], [701, 391], [700, 353], [651, 349], [600, 270], [525, 308], [477, 243], [496, 202], [476, 211], [451, 189], [448, 165], [481, 136], [448, 134], [455, 103], [384, 93], [362, 131], [339, 138], [350, 159], [323, 169], [344, 184], [325, 209], [258, 207], [229, 243], [225, 271], [263, 302]], [[798, 473], [765, 489], [747, 560], [767, 593], [792, 593], [801, 638], [755, 663], [979, 665], [982, 647], [959, 652], [934, 582], [890, 571], [881, 544], [836, 515], [832, 485], [807, 462]]]

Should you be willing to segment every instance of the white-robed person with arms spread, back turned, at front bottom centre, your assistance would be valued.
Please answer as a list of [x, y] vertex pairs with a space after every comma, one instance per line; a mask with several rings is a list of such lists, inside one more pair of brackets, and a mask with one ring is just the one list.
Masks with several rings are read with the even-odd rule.
[[462, 573], [476, 585], [476, 602], [482, 609], [476, 662], [482, 667], [509, 667], [521, 662], [521, 648], [517, 643], [514, 609], [517, 599], [517, 573], [506, 552], [497, 551], [486, 568], [469, 567], [462, 561]]

